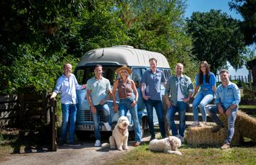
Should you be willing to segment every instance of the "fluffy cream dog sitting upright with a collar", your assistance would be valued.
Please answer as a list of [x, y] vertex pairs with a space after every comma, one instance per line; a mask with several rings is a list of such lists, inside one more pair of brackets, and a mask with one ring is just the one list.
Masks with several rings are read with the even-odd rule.
[[110, 144], [104, 143], [102, 144], [102, 147], [110, 147], [110, 149], [117, 148], [120, 151], [122, 151], [123, 149], [127, 150], [127, 142], [129, 136], [129, 132], [127, 129], [128, 125], [128, 118], [121, 116], [117, 121], [117, 125], [114, 127], [112, 136], [110, 136]]

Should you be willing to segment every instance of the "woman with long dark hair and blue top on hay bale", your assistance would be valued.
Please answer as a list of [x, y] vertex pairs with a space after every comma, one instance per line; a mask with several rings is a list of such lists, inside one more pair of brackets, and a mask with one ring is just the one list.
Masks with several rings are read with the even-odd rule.
[[[198, 92], [199, 86], [201, 87]], [[196, 93], [198, 94], [196, 95]], [[196, 88], [192, 95], [192, 98], [196, 96], [193, 101], [193, 115], [195, 123], [190, 125], [191, 127], [203, 127], [206, 126], [206, 105], [213, 100], [216, 93], [216, 78], [215, 75], [210, 72], [209, 65], [206, 61], [200, 63], [199, 72], [196, 74]], [[198, 106], [202, 114], [203, 123], [198, 121]]]

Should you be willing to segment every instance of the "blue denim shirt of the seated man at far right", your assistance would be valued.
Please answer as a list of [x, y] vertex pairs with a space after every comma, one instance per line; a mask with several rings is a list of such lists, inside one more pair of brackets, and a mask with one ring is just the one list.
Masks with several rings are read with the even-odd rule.
[[240, 90], [233, 82], [228, 82], [228, 86], [223, 87], [220, 84], [216, 89], [216, 98], [214, 103], [220, 103], [221, 106], [228, 108], [231, 104], [238, 106], [240, 103]]

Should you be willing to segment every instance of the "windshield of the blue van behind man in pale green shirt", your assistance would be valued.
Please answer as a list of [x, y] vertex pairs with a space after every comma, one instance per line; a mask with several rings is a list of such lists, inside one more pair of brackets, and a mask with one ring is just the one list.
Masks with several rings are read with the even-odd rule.
[[[102, 76], [110, 80], [110, 84], [114, 85], [114, 81], [117, 79], [117, 73], [115, 72], [119, 67], [113, 66], [103, 66]], [[86, 84], [88, 79], [95, 76], [94, 72], [95, 66], [92, 67], [80, 67], [77, 72], [75, 72], [75, 77], [78, 80], [78, 84]]]

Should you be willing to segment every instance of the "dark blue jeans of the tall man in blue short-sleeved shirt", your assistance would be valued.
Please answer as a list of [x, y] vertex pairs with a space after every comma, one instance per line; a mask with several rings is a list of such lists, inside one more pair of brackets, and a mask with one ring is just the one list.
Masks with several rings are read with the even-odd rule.
[[164, 129], [164, 114], [163, 114], [163, 105], [161, 101], [154, 101], [154, 100], [144, 100], [147, 112], [147, 118], [149, 123], [149, 132], [151, 134], [151, 138], [155, 138], [154, 134], [154, 121], [153, 121], [153, 107], [156, 110], [156, 115], [159, 120], [159, 129], [161, 132], [162, 137], [166, 137], [166, 132]]

